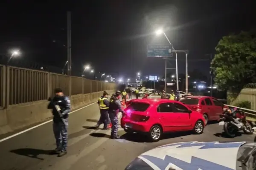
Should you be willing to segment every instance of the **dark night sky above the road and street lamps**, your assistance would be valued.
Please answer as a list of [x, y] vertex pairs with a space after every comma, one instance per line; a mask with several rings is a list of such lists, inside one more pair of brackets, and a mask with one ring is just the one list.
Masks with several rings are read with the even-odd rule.
[[[23, 60], [63, 67], [71, 10], [73, 72], [90, 63], [96, 71], [119, 71], [122, 77], [138, 71], [163, 75], [163, 59], [147, 58], [146, 45], [168, 44], [154, 34], [164, 28], [175, 49], [190, 51], [189, 71], [208, 73], [209, 61], [196, 59], [209, 58], [204, 54], [214, 53], [222, 36], [256, 26], [255, 8], [255, 0], [9, 0], [0, 6], [0, 51], [20, 47]], [[179, 72], [185, 72], [184, 55], [178, 59]]]

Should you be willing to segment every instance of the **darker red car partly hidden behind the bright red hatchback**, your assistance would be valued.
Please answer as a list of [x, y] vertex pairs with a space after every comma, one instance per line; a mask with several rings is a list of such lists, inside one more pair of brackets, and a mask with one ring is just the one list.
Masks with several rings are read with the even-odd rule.
[[223, 108], [228, 108], [222, 102], [209, 96], [187, 96], [180, 99], [180, 102], [187, 105], [192, 111], [197, 111], [204, 115], [205, 122], [220, 119]]

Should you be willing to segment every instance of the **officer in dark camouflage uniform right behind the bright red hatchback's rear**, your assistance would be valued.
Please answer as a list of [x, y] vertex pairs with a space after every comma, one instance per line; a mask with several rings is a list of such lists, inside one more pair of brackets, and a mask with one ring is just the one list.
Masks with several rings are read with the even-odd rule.
[[117, 135], [118, 131], [118, 113], [122, 112], [122, 114], [125, 114], [125, 111], [122, 110], [120, 99], [121, 92], [116, 91], [116, 94], [114, 97], [111, 97], [110, 99], [110, 105], [109, 105], [109, 117], [112, 123], [112, 129], [111, 129], [111, 139], [119, 139], [120, 137]]

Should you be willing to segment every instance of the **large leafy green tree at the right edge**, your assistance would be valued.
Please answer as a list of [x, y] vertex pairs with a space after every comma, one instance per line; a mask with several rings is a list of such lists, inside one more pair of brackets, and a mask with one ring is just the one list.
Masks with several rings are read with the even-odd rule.
[[256, 31], [224, 36], [215, 48], [212, 69], [218, 88], [240, 90], [256, 82]]

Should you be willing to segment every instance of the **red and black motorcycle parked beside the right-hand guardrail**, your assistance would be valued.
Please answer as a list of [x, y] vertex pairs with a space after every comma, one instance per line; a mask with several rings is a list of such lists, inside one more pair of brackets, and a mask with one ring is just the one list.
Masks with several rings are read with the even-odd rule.
[[243, 130], [246, 134], [253, 134], [254, 129], [250, 122], [246, 120], [244, 111], [234, 109], [223, 109], [223, 113], [220, 115], [219, 125], [224, 125], [224, 132], [229, 137], [235, 137], [236, 134]]

